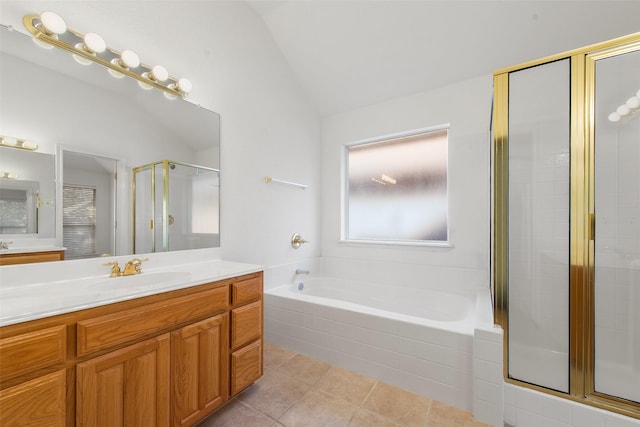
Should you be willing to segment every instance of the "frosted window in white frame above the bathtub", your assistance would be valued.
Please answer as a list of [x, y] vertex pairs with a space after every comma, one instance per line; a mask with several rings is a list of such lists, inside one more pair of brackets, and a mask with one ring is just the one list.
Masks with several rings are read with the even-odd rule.
[[447, 153], [446, 127], [345, 147], [344, 239], [447, 244]]

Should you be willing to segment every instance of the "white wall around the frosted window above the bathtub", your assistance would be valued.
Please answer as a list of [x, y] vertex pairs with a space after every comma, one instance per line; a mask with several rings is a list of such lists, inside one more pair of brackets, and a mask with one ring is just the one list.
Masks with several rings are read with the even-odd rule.
[[[322, 254], [447, 270], [462, 281], [476, 270], [488, 283], [489, 120], [491, 76], [326, 117], [322, 124]], [[444, 123], [449, 130], [449, 226], [452, 247], [339, 243], [341, 156], [344, 144]], [[428, 271], [428, 270], [427, 270]]]

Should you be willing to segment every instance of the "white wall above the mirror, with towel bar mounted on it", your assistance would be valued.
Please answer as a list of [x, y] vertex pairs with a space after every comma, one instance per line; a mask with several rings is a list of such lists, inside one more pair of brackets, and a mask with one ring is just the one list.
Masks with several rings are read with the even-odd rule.
[[[319, 117], [264, 23], [244, 2], [2, 1], [0, 23], [53, 10], [69, 27], [189, 77], [189, 99], [221, 115], [221, 244], [229, 260], [319, 255]], [[265, 184], [265, 175], [309, 185]], [[293, 233], [311, 243], [293, 250]]]

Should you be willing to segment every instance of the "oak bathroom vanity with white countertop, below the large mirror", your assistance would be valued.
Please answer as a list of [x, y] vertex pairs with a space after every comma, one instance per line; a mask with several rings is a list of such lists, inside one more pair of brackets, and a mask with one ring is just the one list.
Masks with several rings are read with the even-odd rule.
[[[184, 278], [174, 269], [49, 283], [52, 307], [32, 312], [12, 307], [20, 292], [42, 298], [40, 285], [2, 289], [0, 307], [15, 313], [0, 313], [0, 425], [191, 426], [257, 380], [262, 271], [182, 268]], [[87, 299], [56, 308], [56, 286]]]

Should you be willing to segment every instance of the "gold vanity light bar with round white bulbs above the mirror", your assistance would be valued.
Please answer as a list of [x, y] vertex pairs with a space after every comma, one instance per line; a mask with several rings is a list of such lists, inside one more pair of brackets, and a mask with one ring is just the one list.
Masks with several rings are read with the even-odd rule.
[[135, 52], [112, 49], [96, 33], [83, 35], [72, 30], [55, 12], [25, 15], [22, 21], [39, 46], [56, 46], [67, 50], [83, 65], [97, 62], [107, 67], [109, 74], [115, 78], [129, 76], [138, 80], [143, 89], [161, 89], [169, 99], [184, 98], [193, 89], [189, 79], [172, 77], [162, 65], [143, 64]]

